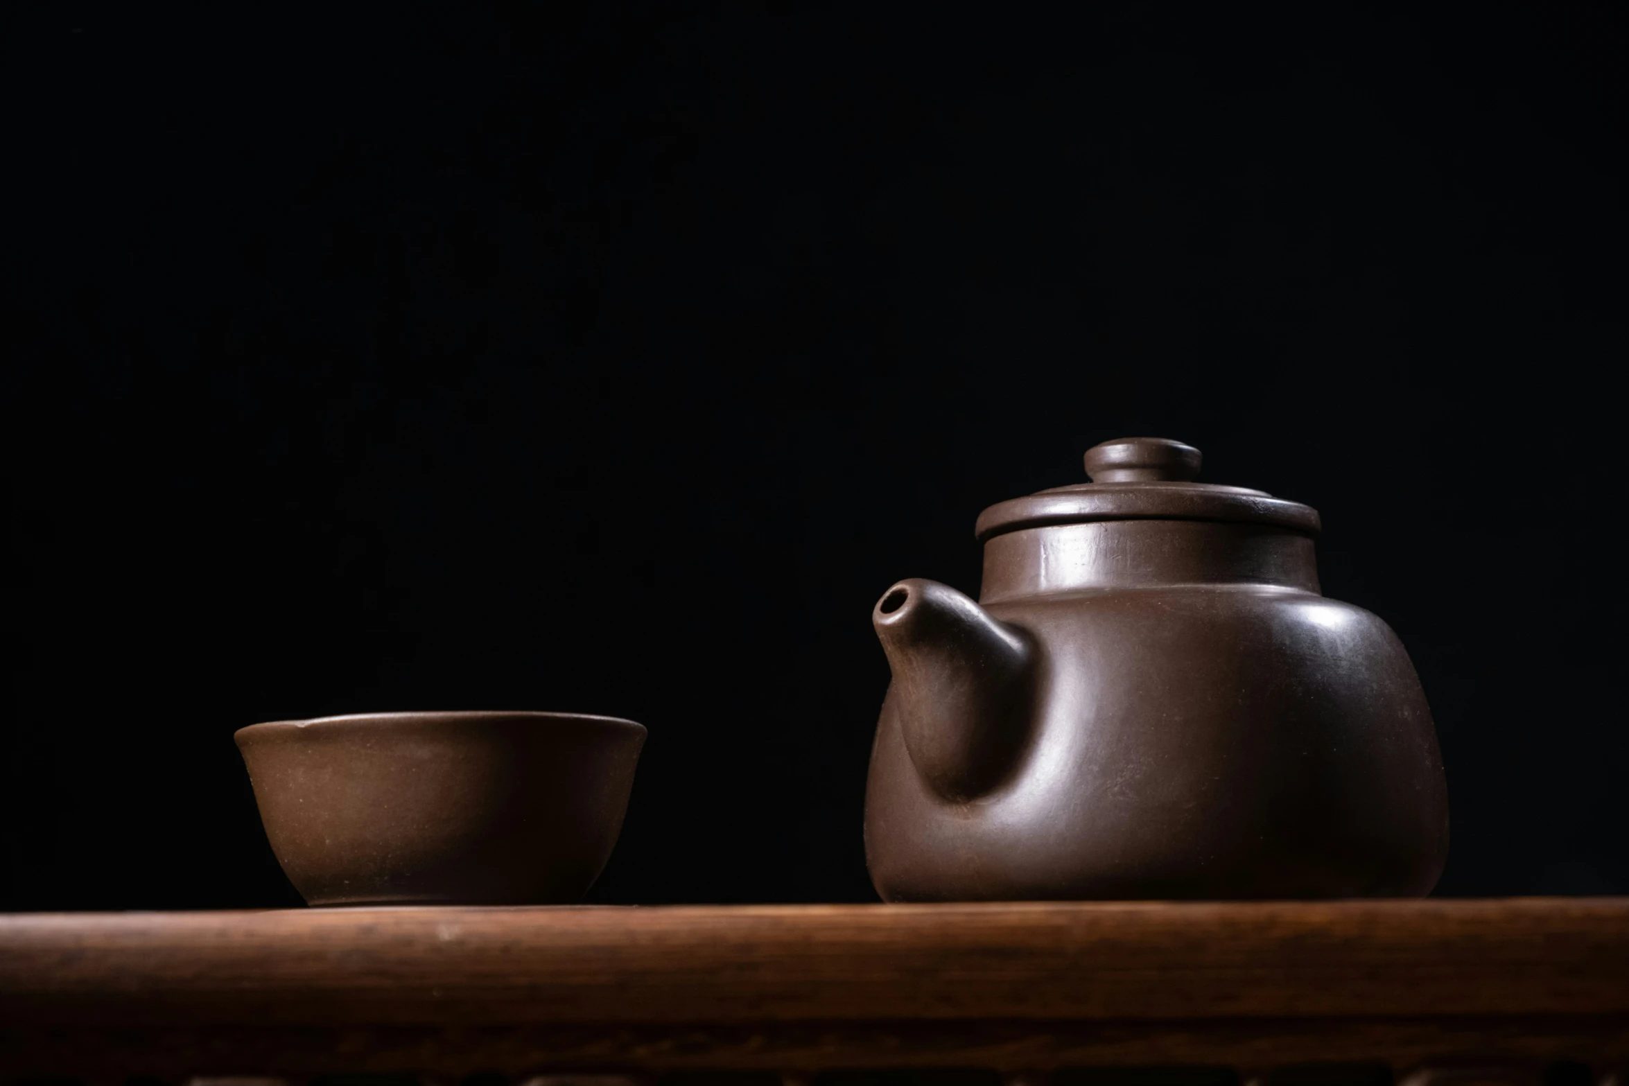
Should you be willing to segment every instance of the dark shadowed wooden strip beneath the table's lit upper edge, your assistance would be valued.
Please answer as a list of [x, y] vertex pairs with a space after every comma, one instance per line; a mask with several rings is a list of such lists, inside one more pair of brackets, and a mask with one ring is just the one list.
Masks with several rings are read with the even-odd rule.
[[0, 1026], [8, 1076], [430, 1075], [1629, 1062], [1629, 1019], [1215, 1019], [757, 1026]]

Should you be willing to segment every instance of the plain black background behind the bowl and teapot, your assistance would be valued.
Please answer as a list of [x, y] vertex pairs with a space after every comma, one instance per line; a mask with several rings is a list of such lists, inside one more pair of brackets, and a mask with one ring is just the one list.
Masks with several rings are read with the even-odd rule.
[[10, 34], [5, 907], [296, 904], [231, 733], [386, 708], [648, 725], [593, 900], [872, 899], [872, 602], [1135, 433], [1321, 510], [1438, 892], [1629, 892], [1614, 16], [446, 7]]

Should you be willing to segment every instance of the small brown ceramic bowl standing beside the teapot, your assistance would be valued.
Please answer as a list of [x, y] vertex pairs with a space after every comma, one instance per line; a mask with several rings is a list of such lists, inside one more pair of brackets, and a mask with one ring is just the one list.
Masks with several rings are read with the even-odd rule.
[[611, 856], [645, 728], [580, 713], [367, 713], [238, 731], [313, 905], [546, 905]]

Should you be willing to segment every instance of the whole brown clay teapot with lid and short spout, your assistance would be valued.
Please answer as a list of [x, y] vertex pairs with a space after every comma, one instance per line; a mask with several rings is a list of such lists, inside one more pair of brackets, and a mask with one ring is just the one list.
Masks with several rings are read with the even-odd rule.
[[1318, 589], [1318, 513], [1160, 438], [979, 516], [974, 602], [899, 581], [865, 795], [886, 900], [1424, 896], [1448, 852], [1401, 642]]

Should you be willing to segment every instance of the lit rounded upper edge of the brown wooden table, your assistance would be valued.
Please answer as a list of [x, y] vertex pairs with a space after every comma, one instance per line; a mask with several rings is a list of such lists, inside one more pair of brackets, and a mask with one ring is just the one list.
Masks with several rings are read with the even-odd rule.
[[1533, 1014], [1629, 1014], [1629, 899], [0, 917], [33, 1024]]

